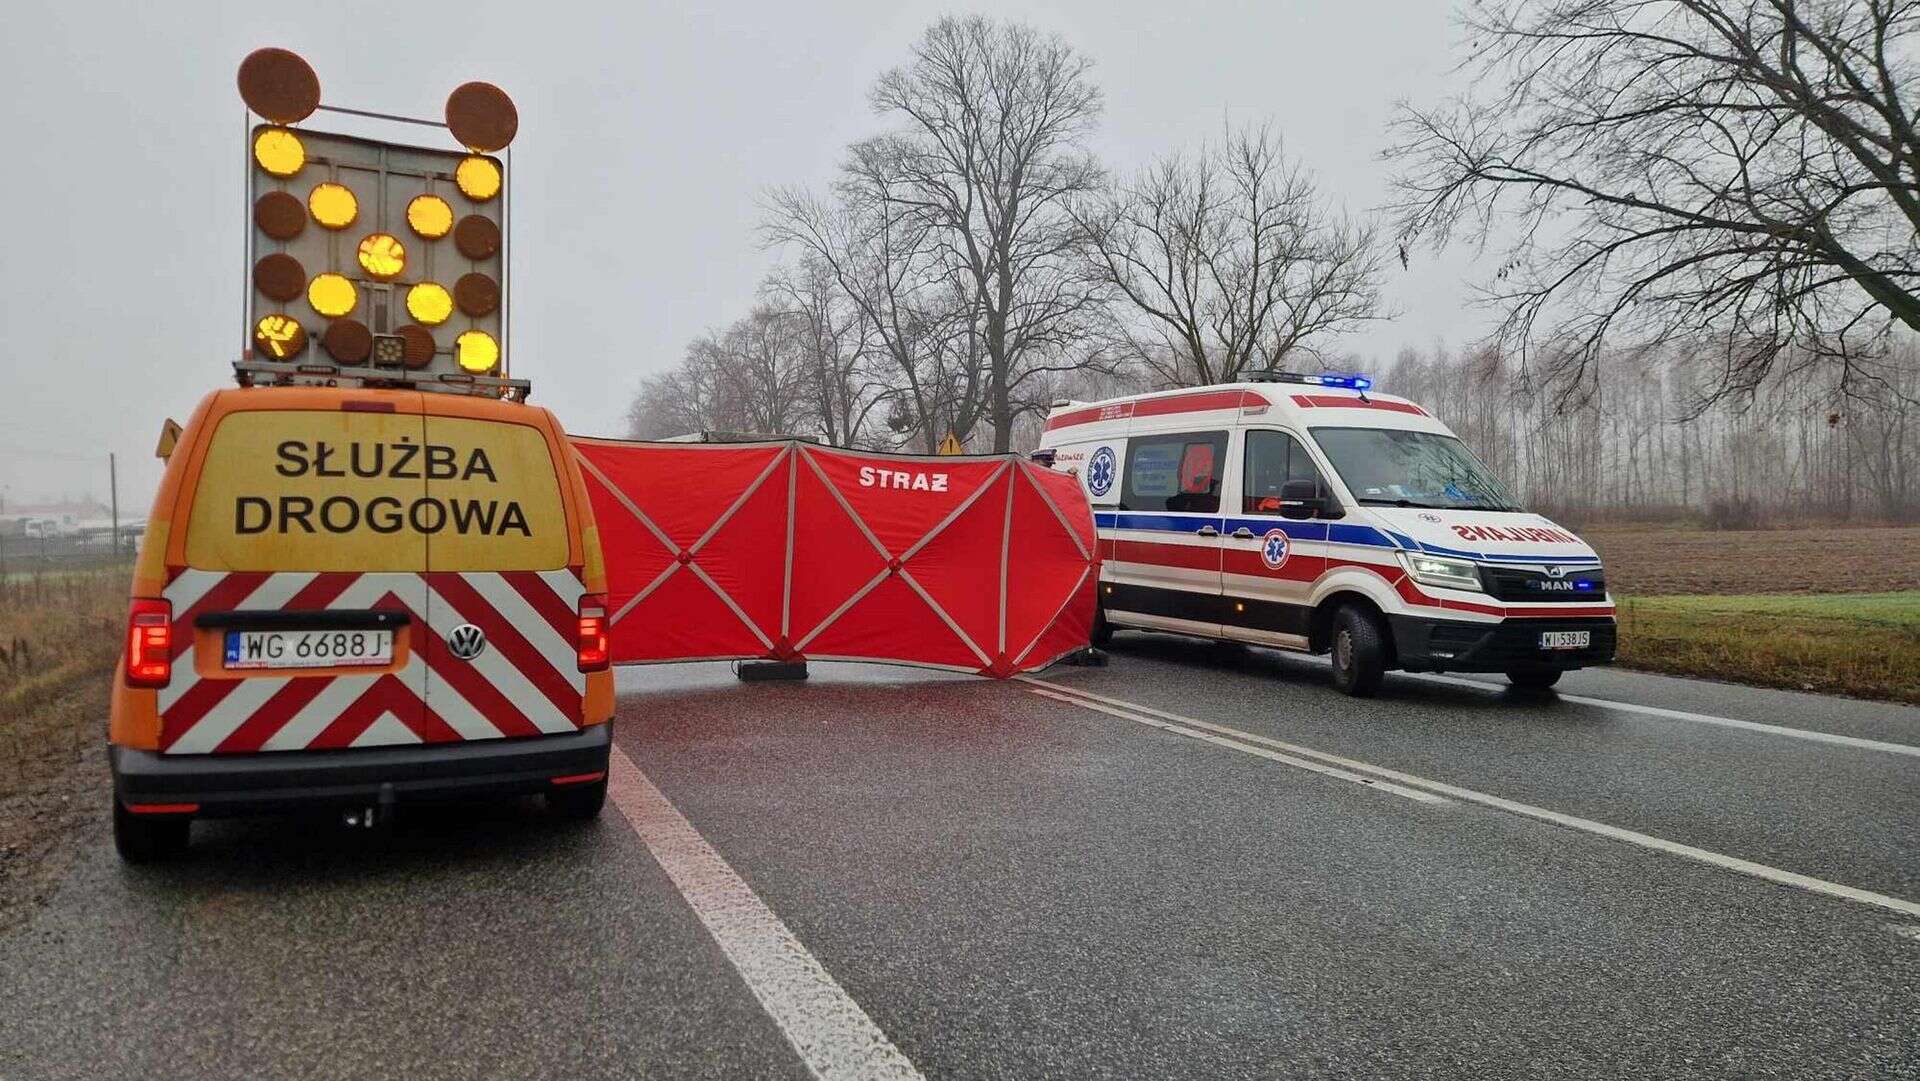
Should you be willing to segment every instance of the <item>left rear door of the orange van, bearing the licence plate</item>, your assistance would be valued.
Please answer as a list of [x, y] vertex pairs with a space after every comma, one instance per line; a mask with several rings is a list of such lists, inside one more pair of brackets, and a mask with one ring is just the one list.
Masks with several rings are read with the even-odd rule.
[[[296, 401], [292, 396], [300, 396]], [[445, 737], [419, 653], [426, 536], [409, 528], [424, 474], [419, 394], [286, 392], [217, 415], [182, 486], [169, 551], [171, 755], [313, 751]]]

